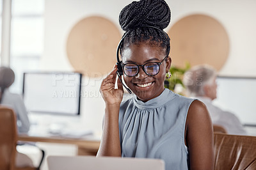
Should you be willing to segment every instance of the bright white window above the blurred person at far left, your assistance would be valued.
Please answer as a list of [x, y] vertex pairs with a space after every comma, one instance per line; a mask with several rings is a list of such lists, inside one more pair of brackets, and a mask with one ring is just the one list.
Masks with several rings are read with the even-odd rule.
[[23, 73], [38, 70], [44, 50], [44, 0], [12, 0], [10, 67], [14, 93], [22, 92]]

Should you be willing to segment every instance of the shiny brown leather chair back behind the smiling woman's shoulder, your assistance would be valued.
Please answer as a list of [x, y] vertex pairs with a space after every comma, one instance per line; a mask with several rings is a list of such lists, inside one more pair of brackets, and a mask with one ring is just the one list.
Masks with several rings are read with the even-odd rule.
[[256, 169], [256, 136], [214, 134], [214, 169]]

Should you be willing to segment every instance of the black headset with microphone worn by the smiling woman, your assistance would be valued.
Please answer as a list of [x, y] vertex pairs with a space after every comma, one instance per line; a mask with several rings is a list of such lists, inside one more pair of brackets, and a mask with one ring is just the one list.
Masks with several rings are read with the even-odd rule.
[[[167, 47], [167, 54], [169, 54], [170, 52], [170, 38], [167, 35], [167, 33], [165, 33], [162, 29], [159, 29], [158, 27], [154, 27], [154, 26], [140, 26], [140, 27], [152, 27], [154, 29], [157, 29], [159, 31], [161, 31], [162, 33], [164, 33], [166, 40], [168, 42], [168, 47]], [[122, 37], [122, 39], [120, 40], [120, 42], [118, 43], [117, 49], [116, 49], [116, 65], [117, 65], [117, 72], [116, 74], [118, 75], [118, 79], [120, 80], [120, 82], [123, 84], [124, 88], [128, 91], [128, 93], [132, 93], [131, 89], [127, 88], [124, 83], [122, 82], [121, 76], [124, 74], [123, 72], [123, 68], [122, 68], [122, 61], [120, 61], [119, 59], [119, 50], [120, 50], [120, 46], [122, 44], [122, 42], [124, 41], [125, 36], [127, 36], [131, 31], [127, 31], [127, 33], [125, 33], [125, 35]]]

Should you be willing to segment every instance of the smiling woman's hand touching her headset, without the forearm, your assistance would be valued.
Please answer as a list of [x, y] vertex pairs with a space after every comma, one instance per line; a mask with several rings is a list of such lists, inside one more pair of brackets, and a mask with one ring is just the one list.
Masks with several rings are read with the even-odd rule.
[[114, 104], [120, 105], [120, 103], [122, 102], [124, 89], [122, 86], [122, 82], [120, 82], [119, 79], [117, 81], [118, 88], [115, 89], [116, 71], [117, 71], [117, 66], [115, 65], [115, 67], [109, 73], [109, 75], [105, 79], [103, 79], [100, 86], [100, 93], [106, 105], [114, 105]]

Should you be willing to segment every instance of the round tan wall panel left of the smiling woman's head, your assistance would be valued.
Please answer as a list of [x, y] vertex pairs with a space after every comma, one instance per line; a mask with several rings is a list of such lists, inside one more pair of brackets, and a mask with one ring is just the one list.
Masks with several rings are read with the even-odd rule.
[[116, 63], [118, 28], [103, 17], [87, 17], [72, 27], [67, 38], [67, 56], [76, 71], [100, 77]]

